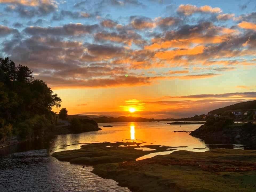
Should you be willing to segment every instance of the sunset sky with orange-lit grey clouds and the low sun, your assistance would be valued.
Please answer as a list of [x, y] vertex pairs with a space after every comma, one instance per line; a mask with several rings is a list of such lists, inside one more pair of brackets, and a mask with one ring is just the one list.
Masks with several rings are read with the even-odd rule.
[[255, 38], [250, 0], [0, 0], [0, 57], [69, 114], [192, 117], [253, 100]]

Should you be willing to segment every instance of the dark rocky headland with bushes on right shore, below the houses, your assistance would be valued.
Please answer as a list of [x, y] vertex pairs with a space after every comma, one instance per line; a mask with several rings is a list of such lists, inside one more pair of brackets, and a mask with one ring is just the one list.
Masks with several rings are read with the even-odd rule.
[[190, 135], [207, 143], [243, 143], [256, 144], [256, 124], [233, 123], [227, 118], [210, 118], [204, 125], [192, 131]]

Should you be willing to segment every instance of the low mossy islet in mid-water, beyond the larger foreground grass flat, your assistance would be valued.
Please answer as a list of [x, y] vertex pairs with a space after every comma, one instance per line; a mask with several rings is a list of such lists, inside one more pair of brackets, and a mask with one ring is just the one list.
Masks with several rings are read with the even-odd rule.
[[[155, 149], [154, 151], [143, 151], [134, 149], [141, 143], [136, 142], [104, 142], [104, 143], [90, 143], [82, 145], [81, 149], [59, 151], [52, 154], [53, 157], [60, 161], [69, 161], [74, 164], [81, 165], [97, 165], [101, 163], [113, 163], [124, 161], [135, 161], [135, 159], [147, 155], [152, 152], [163, 152], [175, 150], [175, 147], [160, 146], [160, 145], [145, 145], [141, 147], [147, 147]], [[125, 145], [126, 147], [119, 147]], [[135, 146], [131, 146], [135, 145]], [[110, 147], [107, 147], [110, 146]], [[183, 147], [183, 146], [180, 146]]]

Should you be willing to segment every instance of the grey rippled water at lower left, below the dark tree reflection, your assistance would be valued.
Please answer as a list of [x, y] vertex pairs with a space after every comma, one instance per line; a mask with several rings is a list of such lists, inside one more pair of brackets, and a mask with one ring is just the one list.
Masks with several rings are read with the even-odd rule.
[[0, 157], [0, 191], [129, 192], [117, 182], [91, 173], [93, 167], [61, 162], [46, 149]]

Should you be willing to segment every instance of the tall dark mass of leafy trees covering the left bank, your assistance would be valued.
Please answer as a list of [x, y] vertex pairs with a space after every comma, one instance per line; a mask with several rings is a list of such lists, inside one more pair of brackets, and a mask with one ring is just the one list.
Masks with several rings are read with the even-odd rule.
[[54, 128], [61, 98], [33, 71], [8, 57], [0, 58], [0, 141], [11, 136], [30, 139]]

